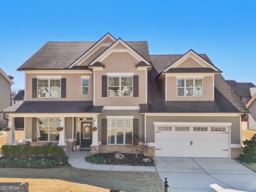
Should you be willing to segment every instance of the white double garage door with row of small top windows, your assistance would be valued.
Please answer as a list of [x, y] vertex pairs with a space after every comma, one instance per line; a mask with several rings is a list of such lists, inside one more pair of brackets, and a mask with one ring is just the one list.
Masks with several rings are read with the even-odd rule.
[[229, 126], [155, 126], [155, 156], [227, 158], [229, 138]]

